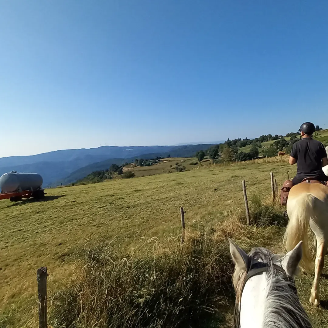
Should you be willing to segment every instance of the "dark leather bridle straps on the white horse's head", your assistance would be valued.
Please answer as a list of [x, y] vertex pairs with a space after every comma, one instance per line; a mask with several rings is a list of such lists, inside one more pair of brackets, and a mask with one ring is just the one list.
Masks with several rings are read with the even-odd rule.
[[[286, 280], [292, 282], [291, 289], [297, 295], [297, 289], [296, 289], [294, 280], [290, 277], [287, 277], [286, 272], [279, 265], [277, 265], [275, 263], [272, 263], [272, 266], [275, 270], [282, 272], [284, 274]], [[244, 283], [241, 287], [240, 297], [241, 297], [241, 294], [244, 290], [246, 282], [250, 278], [261, 275], [262, 273], [267, 272], [268, 270], [269, 270], [268, 264], [263, 263], [263, 262], [256, 262], [256, 263], [252, 264], [252, 259], [250, 258], [249, 263], [247, 265], [247, 276], [246, 276], [246, 278], [244, 280]], [[237, 301], [235, 301], [233, 328], [240, 328], [240, 307], [239, 307], [239, 304], [237, 303]]]

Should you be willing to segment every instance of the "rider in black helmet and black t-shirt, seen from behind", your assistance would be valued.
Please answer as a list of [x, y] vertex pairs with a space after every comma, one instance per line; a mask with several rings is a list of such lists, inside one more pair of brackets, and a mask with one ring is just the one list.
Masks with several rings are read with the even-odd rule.
[[297, 163], [297, 174], [292, 180], [293, 184], [298, 184], [307, 177], [328, 181], [328, 176], [322, 171], [322, 167], [328, 165], [327, 153], [320, 141], [312, 139], [315, 132], [314, 124], [303, 123], [298, 131], [302, 139], [293, 145], [289, 157], [290, 165]]

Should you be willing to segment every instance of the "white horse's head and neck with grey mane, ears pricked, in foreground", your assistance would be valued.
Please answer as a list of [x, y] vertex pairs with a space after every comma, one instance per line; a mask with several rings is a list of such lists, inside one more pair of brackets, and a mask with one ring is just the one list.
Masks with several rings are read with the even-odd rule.
[[247, 255], [229, 239], [235, 262], [235, 328], [312, 327], [297, 296], [294, 276], [302, 257], [302, 242], [285, 256], [266, 248], [253, 248]]

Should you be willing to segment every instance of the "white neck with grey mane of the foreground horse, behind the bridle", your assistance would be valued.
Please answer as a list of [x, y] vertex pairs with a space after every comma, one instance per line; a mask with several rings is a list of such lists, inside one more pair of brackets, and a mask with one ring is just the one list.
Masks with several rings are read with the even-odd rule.
[[272, 273], [250, 278], [243, 290], [240, 328], [310, 328], [311, 323], [290, 283]]

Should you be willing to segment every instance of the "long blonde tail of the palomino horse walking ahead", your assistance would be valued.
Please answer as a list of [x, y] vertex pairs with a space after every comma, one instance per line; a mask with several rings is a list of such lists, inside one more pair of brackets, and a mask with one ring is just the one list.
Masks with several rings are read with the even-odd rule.
[[306, 272], [309, 272], [313, 268], [313, 259], [310, 254], [308, 245], [308, 227], [310, 217], [313, 216], [313, 205], [315, 197], [311, 194], [299, 195], [295, 199], [289, 199], [291, 201], [287, 207], [290, 209], [288, 213], [289, 222], [284, 235], [283, 243], [287, 252], [291, 251], [300, 240], [303, 240], [302, 244], [302, 260], [299, 266]]

